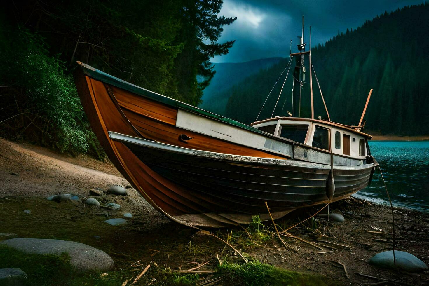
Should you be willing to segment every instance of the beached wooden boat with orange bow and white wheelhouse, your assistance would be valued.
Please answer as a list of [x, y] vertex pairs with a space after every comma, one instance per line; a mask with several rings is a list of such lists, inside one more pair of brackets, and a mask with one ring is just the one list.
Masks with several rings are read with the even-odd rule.
[[251, 126], [78, 62], [75, 82], [109, 159], [158, 211], [187, 226], [274, 219], [365, 188], [377, 162], [358, 126], [274, 117]]

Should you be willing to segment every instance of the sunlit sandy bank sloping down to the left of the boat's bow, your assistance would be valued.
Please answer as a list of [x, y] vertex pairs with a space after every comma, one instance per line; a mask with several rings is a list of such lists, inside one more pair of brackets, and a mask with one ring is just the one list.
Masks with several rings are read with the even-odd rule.
[[[134, 190], [110, 162], [88, 156], [72, 157], [47, 148], [0, 138], [0, 198], [6, 196], [48, 197], [73, 194], [89, 198], [89, 190], [107, 190], [111, 185], [127, 187], [129, 196], [119, 201], [115, 196], [95, 197], [103, 202], [117, 202], [134, 214], [145, 212], [149, 221], [168, 221]], [[124, 199], [124, 198], [123, 198]]]

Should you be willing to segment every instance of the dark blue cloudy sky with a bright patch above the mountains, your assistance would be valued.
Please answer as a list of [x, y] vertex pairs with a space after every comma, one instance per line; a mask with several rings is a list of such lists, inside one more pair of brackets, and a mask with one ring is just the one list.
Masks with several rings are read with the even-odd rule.
[[212, 62], [244, 62], [266, 57], [286, 57], [290, 40], [296, 51], [304, 16], [304, 42], [314, 46], [345, 32], [347, 28], [362, 25], [385, 10], [388, 12], [406, 5], [420, 4], [422, 0], [224, 0], [220, 15], [237, 17], [230, 26], [224, 26], [220, 41], [235, 39], [230, 53], [217, 56]]

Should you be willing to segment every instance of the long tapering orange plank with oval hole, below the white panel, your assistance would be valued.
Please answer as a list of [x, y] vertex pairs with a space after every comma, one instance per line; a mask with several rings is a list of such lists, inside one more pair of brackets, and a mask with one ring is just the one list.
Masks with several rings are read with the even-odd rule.
[[[223, 141], [218, 138], [202, 135], [200, 133], [192, 132], [176, 126], [171, 126], [169, 124], [162, 123], [158, 120], [153, 120], [151, 118], [142, 116], [127, 109], [123, 109], [123, 111], [128, 120], [130, 120], [130, 122], [136, 127], [137, 130], [139, 130], [139, 132], [142, 133], [143, 136], [155, 141], [185, 148], [224, 154], [284, 159], [284, 157], [270, 154], [264, 151]], [[192, 139], [187, 141], [187, 143], [179, 141], [179, 136], [181, 134], [186, 134], [189, 137], [192, 137]]]

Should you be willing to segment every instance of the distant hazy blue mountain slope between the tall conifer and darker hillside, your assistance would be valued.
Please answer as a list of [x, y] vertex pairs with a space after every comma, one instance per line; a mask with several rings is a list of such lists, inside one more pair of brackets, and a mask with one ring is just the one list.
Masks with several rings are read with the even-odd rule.
[[239, 83], [250, 75], [267, 69], [281, 60], [281, 57], [250, 60], [244, 63], [213, 63], [216, 72], [202, 96], [201, 108], [210, 108], [215, 113], [223, 113], [228, 102], [229, 94], [224, 92], [234, 84]]

